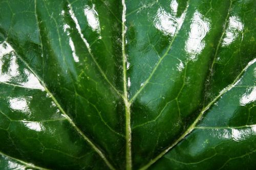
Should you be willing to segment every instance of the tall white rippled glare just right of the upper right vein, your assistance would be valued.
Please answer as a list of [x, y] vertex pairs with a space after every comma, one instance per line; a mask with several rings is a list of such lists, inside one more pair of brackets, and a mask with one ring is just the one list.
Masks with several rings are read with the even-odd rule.
[[189, 58], [193, 61], [196, 60], [196, 55], [200, 53], [204, 46], [204, 37], [209, 31], [209, 22], [196, 11], [190, 26], [190, 32], [186, 41], [186, 51], [189, 53]]

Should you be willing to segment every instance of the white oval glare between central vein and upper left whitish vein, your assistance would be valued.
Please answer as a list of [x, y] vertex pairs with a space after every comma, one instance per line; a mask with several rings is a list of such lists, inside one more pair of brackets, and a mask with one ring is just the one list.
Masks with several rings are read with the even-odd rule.
[[86, 15], [88, 24], [92, 28], [92, 30], [100, 33], [99, 18], [98, 13], [95, 10], [95, 5], [93, 4], [93, 8], [85, 6], [84, 15]]

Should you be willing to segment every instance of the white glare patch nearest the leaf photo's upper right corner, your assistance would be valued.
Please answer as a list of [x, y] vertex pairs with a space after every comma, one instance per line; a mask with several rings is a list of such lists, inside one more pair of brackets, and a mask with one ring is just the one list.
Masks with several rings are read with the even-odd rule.
[[228, 46], [238, 37], [239, 32], [243, 31], [244, 25], [237, 16], [229, 17], [228, 28], [223, 39], [222, 46]]

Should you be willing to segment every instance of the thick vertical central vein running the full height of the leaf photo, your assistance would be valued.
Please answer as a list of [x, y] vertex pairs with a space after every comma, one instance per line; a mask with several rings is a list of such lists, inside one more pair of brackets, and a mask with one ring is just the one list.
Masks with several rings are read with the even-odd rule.
[[132, 142], [132, 130], [131, 130], [131, 103], [128, 100], [127, 93], [127, 82], [126, 82], [126, 55], [125, 55], [125, 13], [126, 6], [125, 0], [122, 0], [123, 13], [122, 13], [122, 59], [123, 59], [123, 93], [124, 93], [124, 104], [125, 104], [125, 138], [126, 138], [126, 170], [132, 169], [132, 150], [131, 150], [131, 142]]

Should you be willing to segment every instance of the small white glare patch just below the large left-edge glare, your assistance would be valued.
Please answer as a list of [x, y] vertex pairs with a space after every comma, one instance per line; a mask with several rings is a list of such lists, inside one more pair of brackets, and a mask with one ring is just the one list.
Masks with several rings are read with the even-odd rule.
[[28, 112], [28, 100], [26, 98], [12, 98], [9, 100], [10, 107], [13, 110], [19, 110], [23, 112]]

